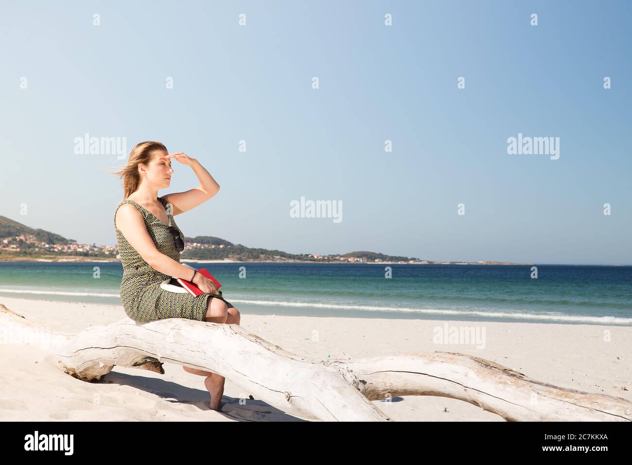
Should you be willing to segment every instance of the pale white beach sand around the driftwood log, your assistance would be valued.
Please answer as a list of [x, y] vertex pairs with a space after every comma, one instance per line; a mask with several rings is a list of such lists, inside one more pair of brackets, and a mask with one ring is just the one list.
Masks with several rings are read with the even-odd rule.
[[[53, 332], [72, 333], [125, 317], [123, 307], [0, 297], [0, 303]], [[485, 328], [485, 347], [435, 344], [444, 321], [319, 318], [248, 314], [241, 326], [290, 352], [307, 357], [356, 358], [398, 352], [447, 350], [472, 354], [516, 369], [538, 381], [632, 400], [632, 327], [537, 323], [473, 323]], [[318, 332], [318, 341], [313, 340]], [[604, 332], [609, 331], [609, 341]], [[607, 339], [607, 337], [605, 338]], [[224, 413], [209, 409], [204, 377], [165, 363], [164, 375], [115, 366], [100, 381], [66, 375], [52, 352], [34, 345], [0, 344], [2, 421], [303, 421], [226, 379]], [[624, 390], [626, 389], [626, 390]], [[240, 397], [246, 398], [240, 404]], [[394, 421], [504, 421], [461, 400], [405, 396], [374, 404]]]

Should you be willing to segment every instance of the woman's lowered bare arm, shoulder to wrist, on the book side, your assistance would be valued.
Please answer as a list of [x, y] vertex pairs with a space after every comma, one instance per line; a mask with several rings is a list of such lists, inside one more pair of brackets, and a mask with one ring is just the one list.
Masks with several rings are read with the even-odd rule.
[[191, 279], [191, 275], [193, 275], [191, 268], [178, 263], [156, 249], [154, 241], [147, 233], [145, 220], [135, 206], [131, 204], [121, 205], [116, 211], [115, 222], [116, 228], [123, 233], [127, 242], [154, 270], [174, 278]]

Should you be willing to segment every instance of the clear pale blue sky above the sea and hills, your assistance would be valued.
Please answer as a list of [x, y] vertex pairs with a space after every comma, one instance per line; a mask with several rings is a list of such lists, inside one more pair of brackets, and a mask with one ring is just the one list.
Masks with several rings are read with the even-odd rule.
[[[295, 253], [632, 264], [628, 1], [0, 5], [3, 216], [116, 244], [123, 190], [107, 170], [121, 161], [75, 154], [89, 133], [200, 160], [222, 188], [176, 216], [187, 236]], [[507, 154], [519, 132], [559, 137], [560, 158]], [[174, 168], [159, 194], [197, 185]], [[343, 221], [290, 218], [301, 195], [342, 201]]]

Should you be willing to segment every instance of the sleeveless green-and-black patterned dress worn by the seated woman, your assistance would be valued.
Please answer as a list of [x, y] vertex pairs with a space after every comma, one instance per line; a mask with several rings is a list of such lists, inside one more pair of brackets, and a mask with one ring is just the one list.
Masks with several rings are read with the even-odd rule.
[[[185, 236], [173, 220], [173, 211], [169, 208], [170, 204], [162, 197], [158, 197], [158, 200], [166, 209], [169, 225], [164, 224], [154, 213], [132, 200], [120, 202], [114, 211], [114, 230], [121, 255], [121, 264], [123, 264], [123, 279], [120, 288], [123, 309], [125, 309], [127, 316], [135, 321], [153, 321], [163, 318], [188, 318], [204, 321], [207, 302], [211, 297], [217, 297], [217, 299], [226, 302], [222, 297], [221, 290], [218, 289], [216, 294], [205, 293], [193, 297], [188, 292], [179, 294], [161, 288], [161, 282], [171, 278], [171, 276], [152, 268], [127, 242], [123, 233], [116, 228], [116, 211], [123, 204], [133, 204], [143, 215], [147, 233], [154, 241], [158, 251], [179, 263], [180, 252], [176, 249], [173, 234], [167, 230], [167, 227], [175, 226], [183, 242]], [[191, 271], [191, 275], [193, 275], [193, 271]], [[228, 307], [233, 307], [229, 302], [226, 304]]]

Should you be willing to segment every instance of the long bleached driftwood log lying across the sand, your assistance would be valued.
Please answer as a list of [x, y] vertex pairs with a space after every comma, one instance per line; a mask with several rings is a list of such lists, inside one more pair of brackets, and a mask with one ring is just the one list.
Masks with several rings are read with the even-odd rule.
[[[365, 359], [312, 359], [239, 325], [182, 318], [125, 318], [75, 335], [54, 334], [0, 304], [0, 336], [39, 340], [65, 373], [100, 380], [143, 357], [219, 373], [271, 406], [322, 421], [389, 421], [371, 401], [400, 395], [464, 400], [507, 421], [632, 421], [632, 402], [532, 380], [492, 361], [456, 352]], [[141, 368], [164, 373], [162, 363]], [[420, 418], [423, 420], [423, 418]]]

